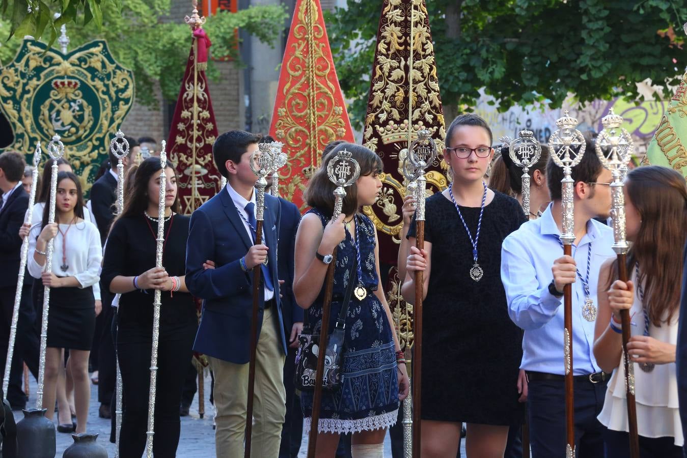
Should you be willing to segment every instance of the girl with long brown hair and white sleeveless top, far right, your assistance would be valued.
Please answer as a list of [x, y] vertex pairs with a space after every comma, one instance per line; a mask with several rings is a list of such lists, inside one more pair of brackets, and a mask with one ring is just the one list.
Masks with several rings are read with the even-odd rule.
[[632, 170], [625, 181], [625, 214], [631, 279], [616, 280], [616, 260], [602, 266], [594, 332], [596, 361], [613, 371], [598, 416], [608, 428], [606, 457], [630, 456], [620, 329], [620, 310], [629, 310], [640, 456], [682, 458], [675, 347], [687, 227], [683, 176], [654, 165]]

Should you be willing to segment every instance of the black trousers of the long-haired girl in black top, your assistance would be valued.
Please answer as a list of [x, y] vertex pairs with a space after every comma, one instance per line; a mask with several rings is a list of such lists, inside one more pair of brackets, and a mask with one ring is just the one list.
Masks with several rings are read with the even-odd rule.
[[[179, 445], [181, 388], [192, 356], [196, 323], [161, 325], [157, 354], [155, 394], [155, 458], [173, 458]], [[120, 355], [123, 396], [126, 400], [120, 431], [120, 456], [140, 457], [146, 448], [150, 348], [148, 326], [120, 325], [117, 352]]]

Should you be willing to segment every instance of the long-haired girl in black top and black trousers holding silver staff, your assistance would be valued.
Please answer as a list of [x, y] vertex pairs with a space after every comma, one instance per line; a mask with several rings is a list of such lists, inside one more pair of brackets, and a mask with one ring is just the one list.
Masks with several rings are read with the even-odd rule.
[[170, 166], [165, 169], [164, 268], [155, 267], [160, 173], [158, 158], [139, 165], [133, 192], [112, 225], [102, 268], [102, 284], [111, 293], [122, 295], [117, 312], [117, 356], [124, 399], [122, 457], [140, 457], [146, 446], [154, 290], [162, 291], [153, 442], [156, 458], [177, 453], [181, 387], [197, 328], [196, 310], [184, 279], [190, 218], [176, 213], [177, 177]]

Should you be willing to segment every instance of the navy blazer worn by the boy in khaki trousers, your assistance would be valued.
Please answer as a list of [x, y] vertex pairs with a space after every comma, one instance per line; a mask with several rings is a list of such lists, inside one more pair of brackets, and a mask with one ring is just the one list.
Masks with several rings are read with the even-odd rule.
[[[264, 196], [264, 238], [268, 267], [272, 278], [278, 278], [277, 236], [280, 205], [276, 197]], [[205, 202], [191, 215], [186, 245], [186, 286], [192, 295], [203, 299], [201, 323], [193, 350], [235, 364], [249, 361], [251, 315], [253, 310], [253, 275], [245, 273], [240, 259], [253, 245], [226, 189]], [[216, 268], [203, 269], [205, 260]], [[273, 313], [280, 332], [282, 352], [286, 354], [286, 337], [282, 319], [279, 284], [276, 282]], [[260, 295], [258, 338], [262, 330], [264, 298]]]

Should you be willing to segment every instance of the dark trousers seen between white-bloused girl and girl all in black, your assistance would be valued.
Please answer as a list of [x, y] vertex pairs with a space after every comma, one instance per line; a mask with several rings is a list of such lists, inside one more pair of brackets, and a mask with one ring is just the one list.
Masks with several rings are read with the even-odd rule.
[[[114, 295], [101, 289], [102, 297], [102, 333], [98, 341], [98, 402], [109, 405], [115, 394], [117, 382], [117, 360], [115, 359], [115, 339], [112, 327], [115, 309], [112, 308]], [[95, 345], [95, 343], [93, 343]]]

